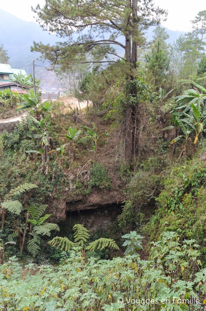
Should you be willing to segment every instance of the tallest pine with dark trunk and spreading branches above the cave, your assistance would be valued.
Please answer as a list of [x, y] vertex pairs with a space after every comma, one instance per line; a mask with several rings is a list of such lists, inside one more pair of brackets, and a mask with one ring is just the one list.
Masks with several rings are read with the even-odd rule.
[[[34, 42], [32, 50], [40, 52], [53, 66], [64, 69], [77, 63], [115, 63], [117, 58], [122, 58], [119, 56], [122, 50], [128, 80], [135, 79], [137, 49], [145, 43], [144, 30], [167, 15], [165, 10], [154, 7], [153, 0], [47, 0], [43, 8], [38, 5], [33, 11], [45, 30], [64, 39], [53, 46]], [[135, 105], [131, 104], [131, 97], [136, 98], [136, 94], [135, 88], [128, 89], [125, 158], [129, 163], [133, 158], [133, 131], [137, 122], [133, 118]]]

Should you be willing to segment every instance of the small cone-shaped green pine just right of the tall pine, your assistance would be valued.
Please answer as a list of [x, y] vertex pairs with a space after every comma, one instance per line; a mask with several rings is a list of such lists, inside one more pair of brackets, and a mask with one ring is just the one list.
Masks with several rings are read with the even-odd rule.
[[145, 62], [146, 68], [154, 78], [154, 85], [158, 90], [160, 87], [164, 88], [167, 71], [169, 69], [169, 60], [165, 53], [160, 49], [160, 42], [156, 45], [156, 51], [152, 51], [152, 55], [146, 55]]

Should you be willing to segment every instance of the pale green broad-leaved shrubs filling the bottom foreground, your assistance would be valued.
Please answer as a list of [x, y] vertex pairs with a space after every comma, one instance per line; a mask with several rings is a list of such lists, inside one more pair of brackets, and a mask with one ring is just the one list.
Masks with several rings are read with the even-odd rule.
[[[134, 250], [140, 248], [135, 232], [127, 236], [132, 238]], [[133, 251], [123, 258], [85, 260], [75, 248], [60, 266], [44, 265], [36, 271], [36, 265], [21, 267], [13, 257], [0, 266], [1, 308], [8, 311], [181, 311], [200, 310], [202, 306], [204, 309], [206, 277], [198, 248], [195, 240], [181, 242], [175, 232], [165, 232], [152, 243], [148, 260], [141, 260]], [[129, 297], [135, 299], [132, 301]], [[191, 297], [200, 303], [178, 303], [177, 299]], [[166, 299], [169, 299], [167, 303]]]

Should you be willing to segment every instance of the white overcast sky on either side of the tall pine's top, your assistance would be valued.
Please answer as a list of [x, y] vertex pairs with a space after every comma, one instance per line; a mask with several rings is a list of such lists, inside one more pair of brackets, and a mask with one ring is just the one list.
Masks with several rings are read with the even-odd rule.
[[[154, 2], [168, 10], [167, 21], [162, 25], [171, 30], [189, 31], [190, 20], [193, 20], [199, 11], [206, 10], [204, 0], [154, 0]], [[0, 9], [25, 21], [35, 21], [31, 6], [35, 7], [38, 3], [42, 6], [44, 0], [0, 0]]]

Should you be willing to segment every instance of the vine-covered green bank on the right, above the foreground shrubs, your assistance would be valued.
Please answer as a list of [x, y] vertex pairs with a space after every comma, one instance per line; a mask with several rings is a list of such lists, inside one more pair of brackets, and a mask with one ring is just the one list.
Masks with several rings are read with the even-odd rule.
[[167, 230], [182, 238], [198, 239], [204, 247], [206, 239], [206, 163], [193, 159], [175, 165], [162, 180], [163, 190], [157, 197], [158, 209], [143, 228], [151, 240]]

